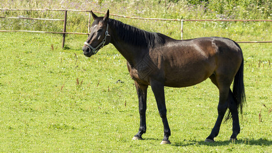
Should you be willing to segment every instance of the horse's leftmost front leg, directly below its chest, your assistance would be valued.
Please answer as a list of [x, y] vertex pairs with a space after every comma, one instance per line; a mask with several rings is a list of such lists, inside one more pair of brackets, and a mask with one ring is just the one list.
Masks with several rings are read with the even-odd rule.
[[142, 140], [142, 134], [146, 132], [145, 112], [146, 112], [146, 94], [148, 86], [139, 85], [135, 81], [135, 87], [139, 99], [140, 128], [139, 132], [132, 138], [132, 140]]

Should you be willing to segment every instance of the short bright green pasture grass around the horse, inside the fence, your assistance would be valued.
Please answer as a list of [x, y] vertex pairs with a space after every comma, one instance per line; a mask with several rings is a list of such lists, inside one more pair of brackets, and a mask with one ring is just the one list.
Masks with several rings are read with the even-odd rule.
[[126, 60], [112, 44], [87, 58], [81, 50], [86, 36], [68, 35], [66, 49], [61, 35], [0, 33], [0, 38], [1, 152], [272, 151], [270, 44], [240, 44], [248, 102], [238, 141], [228, 141], [232, 122], [227, 122], [215, 143], [204, 142], [218, 104], [218, 90], [207, 80], [165, 88], [172, 144], [160, 145], [163, 125], [150, 88], [147, 132], [143, 141], [131, 140], [139, 128], [138, 100]]

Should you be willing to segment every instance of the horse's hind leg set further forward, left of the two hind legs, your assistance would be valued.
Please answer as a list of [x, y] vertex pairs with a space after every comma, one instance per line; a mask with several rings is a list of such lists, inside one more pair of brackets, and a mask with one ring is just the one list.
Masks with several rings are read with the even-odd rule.
[[219, 89], [219, 103], [217, 106], [218, 116], [211, 134], [206, 138], [205, 142], [214, 142], [214, 138], [219, 134], [220, 125], [228, 109], [228, 96], [230, 89], [230, 84], [226, 84], [225, 82], [218, 82], [215, 74], [211, 75], [210, 79], [212, 83], [215, 84]]

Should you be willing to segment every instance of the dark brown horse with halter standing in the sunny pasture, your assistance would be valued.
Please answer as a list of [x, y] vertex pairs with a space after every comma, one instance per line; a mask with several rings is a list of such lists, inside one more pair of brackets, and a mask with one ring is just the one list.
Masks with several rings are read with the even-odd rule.
[[[161, 144], [170, 144], [170, 128], [166, 117], [164, 86], [188, 87], [210, 78], [219, 89], [218, 117], [206, 142], [219, 133], [224, 115], [233, 120], [230, 140], [240, 132], [238, 110], [245, 101], [243, 55], [239, 45], [228, 38], [205, 37], [175, 40], [160, 33], [146, 32], [131, 25], [91, 12], [94, 22], [84, 43], [84, 55], [90, 57], [104, 45], [112, 43], [126, 58], [139, 98], [140, 128], [133, 140], [146, 132], [145, 111], [147, 87], [154, 92], [164, 127]], [[233, 90], [230, 86], [233, 83]]]

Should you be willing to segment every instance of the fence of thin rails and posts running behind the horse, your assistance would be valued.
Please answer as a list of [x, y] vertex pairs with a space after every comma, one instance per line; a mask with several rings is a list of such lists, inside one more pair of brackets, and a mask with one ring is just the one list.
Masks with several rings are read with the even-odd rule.
[[[64, 9], [0, 9], [2, 11], [64, 11], [64, 19], [47, 19], [47, 18], [28, 18], [28, 17], [5, 17], [0, 16], [0, 18], [13, 18], [13, 19], [32, 19], [32, 20], [52, 20], [52, 21], [63, 21], [63, 32], [44, 32], [44, 31], [27, 31], [27, 30], [0, 30], [0, 32], [33, 32], [33, 33], [52, 33], [52, 34], [63, 34], [62, 36], [62, 48], [65, 43], [66, 34], [77, 34], [77, 35], [88, 35], [90, 33], [90, 21], [91, 21], [91, 11], [90, 10], [64, 10]], [[67, 12], [89, 12], [88, 20], [88, 33], [73, 33], [66, 32], [66, 21], [67, 21]], [[93, 11], [94, 13], [106, 14], [104, 12]], [[112, 16], [131, 18], [131, 19], [143, 19], [143, 20], [161, 20], [161, 21], [181, 21], [181, 39], [183, 39], [183, 29], [184, 21], [243, 21], [243, 22], [271, 22], [272, 20], [260, 19], [260, 20], [246, 20], [246, 19], [166, 19], [166, 18], [143, 18], [143, 17], [130, 17], [118, 14], [110, 14]], [[272, 41], [237, 41], [237, 43], [272, 43]]]

